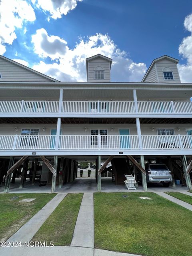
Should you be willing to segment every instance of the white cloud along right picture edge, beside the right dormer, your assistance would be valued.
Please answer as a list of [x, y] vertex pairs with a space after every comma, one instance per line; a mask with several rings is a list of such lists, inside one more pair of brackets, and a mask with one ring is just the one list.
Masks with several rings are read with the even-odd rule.
[[184, 27], [191, 32], [190, 36], [185, 37], [179, 46], [179, 53], [187, 59], [186, 65], [178, 64], [181, 82], [192, 82], [192, 14], [186, 16]]

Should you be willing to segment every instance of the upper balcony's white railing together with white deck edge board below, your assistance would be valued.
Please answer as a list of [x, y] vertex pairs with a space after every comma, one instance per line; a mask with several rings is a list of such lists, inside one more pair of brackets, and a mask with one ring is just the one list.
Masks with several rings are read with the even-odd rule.
[[192, 102], [0, 101], [0, 117], [191, 117]]

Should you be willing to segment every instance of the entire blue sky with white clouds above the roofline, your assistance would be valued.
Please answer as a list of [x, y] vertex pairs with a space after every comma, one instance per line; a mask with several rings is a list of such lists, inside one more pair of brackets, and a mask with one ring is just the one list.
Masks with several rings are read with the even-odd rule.
[[192, 82], [191, 0], [1, 0], [0, 12], [0, 54], [58, 80], [86, 81], [85, 58], [100, 53], [112, 81], [140, 82], [167, 54]]

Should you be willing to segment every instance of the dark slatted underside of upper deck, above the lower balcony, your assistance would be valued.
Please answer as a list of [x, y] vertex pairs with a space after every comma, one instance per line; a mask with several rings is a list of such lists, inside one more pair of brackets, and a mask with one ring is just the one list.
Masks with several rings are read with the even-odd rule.
[[[135, 124], [136, 118], [62, 118], [62, 124]], [[0, 124], [56, 124], [57, 118], [0, 118]], [[192, 124], [192, 118], [140, 118], [140, 124]]]

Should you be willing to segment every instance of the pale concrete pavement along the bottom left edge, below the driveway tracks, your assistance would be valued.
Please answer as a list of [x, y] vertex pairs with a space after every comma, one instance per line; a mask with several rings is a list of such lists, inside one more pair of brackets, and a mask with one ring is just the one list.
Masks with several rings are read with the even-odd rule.
[[0, 248], [1, 256], [94, 256], [94, 249], [73, 246], [54, 247], [5, 247]]

